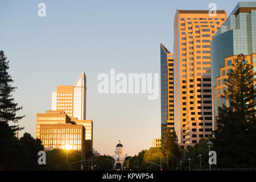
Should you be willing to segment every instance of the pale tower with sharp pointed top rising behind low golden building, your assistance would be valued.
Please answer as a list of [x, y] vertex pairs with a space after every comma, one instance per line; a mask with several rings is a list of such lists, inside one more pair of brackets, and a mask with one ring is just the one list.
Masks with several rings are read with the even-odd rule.
[[86, 76], [82, 72], [75, 86], [57, 86], [52, 92], [52, 110], [65, 111], [70, 117], [86, 119]]

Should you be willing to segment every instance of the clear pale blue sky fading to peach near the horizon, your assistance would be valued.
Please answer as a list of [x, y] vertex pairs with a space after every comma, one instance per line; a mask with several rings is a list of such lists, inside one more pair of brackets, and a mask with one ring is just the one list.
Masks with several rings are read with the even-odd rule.
[[[46, 3], [46, 17], [38, 4]], [[60, 1], [2, 0], [0, 49], [10, 60], [10, 74], [23, 106], [20, 121], [35, 137], [36, 113], [51, 109], [57, 85], [73, 85], [87, 76], [87, 119], [94, 122], [93, 144], [101, 154], [114, 154], [120, 139], [125, 152], [135, 155], [160, 137], [160, 96], [98, 94], [97, 75], [159, 73], [160, 43], [173, 48], [177, 9], [208, 10], [209, 3], [227, 15], [238, 1]], [[159, 88], [160, 89], [160, 88]]]

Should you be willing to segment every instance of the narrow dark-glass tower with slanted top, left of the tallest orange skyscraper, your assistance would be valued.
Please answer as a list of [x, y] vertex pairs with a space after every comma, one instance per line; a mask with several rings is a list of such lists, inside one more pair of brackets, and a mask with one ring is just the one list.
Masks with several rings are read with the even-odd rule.
[[167, 129], [174, 131], [174, 55], [160, 44], [161, 67], [161, 144]]

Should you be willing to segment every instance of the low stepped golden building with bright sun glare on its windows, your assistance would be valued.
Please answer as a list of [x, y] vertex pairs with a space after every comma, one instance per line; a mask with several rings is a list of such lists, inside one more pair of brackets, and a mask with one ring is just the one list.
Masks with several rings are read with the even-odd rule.
[[44, 148], [77, 150], [85, 156], [85, 127], [72, 122], [64, 111], [46, 111], [36, 116], [36, 138]]

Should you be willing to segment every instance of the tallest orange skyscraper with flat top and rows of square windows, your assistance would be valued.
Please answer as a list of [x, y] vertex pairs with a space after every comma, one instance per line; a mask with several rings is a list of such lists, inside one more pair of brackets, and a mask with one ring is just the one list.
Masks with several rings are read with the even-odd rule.
[[174, 23], [175, 130], [181, 148], [212, 135], [210, 41], [226, 12], [177, 10]]

